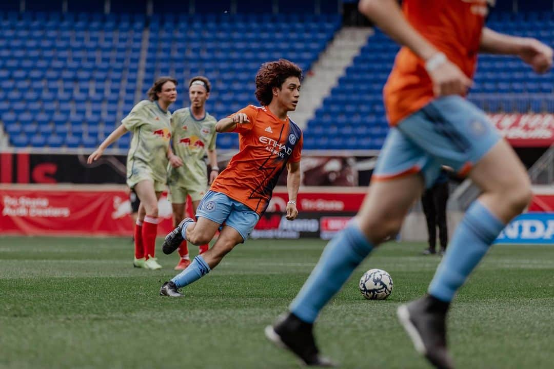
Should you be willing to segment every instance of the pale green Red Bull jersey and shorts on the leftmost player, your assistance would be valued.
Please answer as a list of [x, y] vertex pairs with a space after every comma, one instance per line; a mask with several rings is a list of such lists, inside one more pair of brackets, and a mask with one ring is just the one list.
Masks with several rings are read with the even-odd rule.
[[167, 149], [171, 139], [171, 113], [163, 111], [156, 101], [142, 100], [135, 105], [121, 123], [133, 133], [127, 155], [127, 182], [135, 183], [150, 169], [152, 180], [167, 181]]

